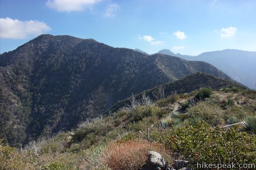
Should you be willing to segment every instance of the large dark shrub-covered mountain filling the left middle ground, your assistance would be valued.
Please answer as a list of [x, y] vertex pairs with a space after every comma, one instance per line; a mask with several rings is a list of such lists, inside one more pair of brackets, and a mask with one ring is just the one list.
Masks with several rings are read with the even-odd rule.
[[132, 93], [195, 72], [230, 79], [201, 61], [41, 35], [0, 55], [0, 138], [17, 145], [70, 129]]

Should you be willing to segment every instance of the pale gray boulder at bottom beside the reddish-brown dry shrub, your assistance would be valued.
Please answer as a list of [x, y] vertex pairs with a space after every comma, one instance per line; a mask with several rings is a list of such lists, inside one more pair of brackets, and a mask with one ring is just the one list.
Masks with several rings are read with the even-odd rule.
[[162, 170], [164, 169], [164, 157], [158, 152], [149, 151], [149, 157], [142, 170]]

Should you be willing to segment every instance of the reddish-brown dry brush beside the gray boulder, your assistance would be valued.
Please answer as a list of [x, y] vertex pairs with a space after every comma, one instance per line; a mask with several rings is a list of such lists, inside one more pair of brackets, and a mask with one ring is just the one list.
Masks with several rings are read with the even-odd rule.
[[107, 165], [111, 170], [138, 170], [147, 160], [148, 151], [162, 153], [163, 147], [147, 141], [113, 143], [102, 153], [100, 163]]

